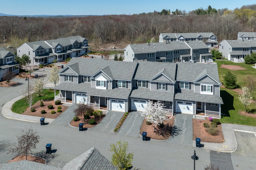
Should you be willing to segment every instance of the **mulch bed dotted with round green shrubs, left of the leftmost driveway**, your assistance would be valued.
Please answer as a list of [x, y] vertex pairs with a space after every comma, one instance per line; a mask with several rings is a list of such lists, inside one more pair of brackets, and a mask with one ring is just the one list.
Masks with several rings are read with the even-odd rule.
[[[32, 108], [35, 108], [35, 112], [30, 111], [30, 107], [27, 108], [27, 110], [22, 113], [23, 115], [31, 115], [31, 116], [38, 116], [38, 117], [46, 117], [50, 119], [55, 119], [58, 117], [61, 113], [63, 113], [65, 110], [67, 110], [67, 106], [62, 106], [62, 104], [55, 105], [54, 101], [43, 101], [44, 106], [40, 106], [40, 101], [36, 102]], [[48, 109], [48, 105], [53, 105], [53, 109]], [[58, 106], [61, 106], [61, 111], [62, 112], [57, 112]], [[41, 110], [45, 110], [45, 114], [41, 114]], [[51, 111], [54, 110], [56, 113], [51, 114]]]

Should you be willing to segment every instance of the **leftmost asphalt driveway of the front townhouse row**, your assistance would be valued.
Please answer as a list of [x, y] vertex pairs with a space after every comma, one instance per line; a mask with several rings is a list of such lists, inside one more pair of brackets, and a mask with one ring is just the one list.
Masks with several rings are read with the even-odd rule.
[[[64, 104], [63, 104], [64, 105]], [[74, 118], [74, 109], [76, 108], [76, 104], [67, 104], [65, 106], [69, 106], [65, 112], [61, 113], [51, 124], [59, 125], [59, 126], [69, 126], [69, 122]]]

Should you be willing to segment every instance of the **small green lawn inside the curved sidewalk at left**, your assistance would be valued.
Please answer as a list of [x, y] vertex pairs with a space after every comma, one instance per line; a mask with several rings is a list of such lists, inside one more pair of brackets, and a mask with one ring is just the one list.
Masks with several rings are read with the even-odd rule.
[[[56, 95], [58, 94], [59, 91], [56, 91]], [[41, 97], [41, 101], [42, 100], [54, 100], [54, 91], [48, 91], [48, 89], [44, 89], [44, 95]], [[38, 95], [35, 95], [35, 101], [33, 102], [33, 104], [35, 104], [37, 101], [39, 101], [39, 97]], [[28, 107], [29, 104], [28, 102], [26, 102], [26, 98], [24, 97], [13, 104], [13, 106], [11, 107], [11, 111], [21, 114], [25, 112]]]

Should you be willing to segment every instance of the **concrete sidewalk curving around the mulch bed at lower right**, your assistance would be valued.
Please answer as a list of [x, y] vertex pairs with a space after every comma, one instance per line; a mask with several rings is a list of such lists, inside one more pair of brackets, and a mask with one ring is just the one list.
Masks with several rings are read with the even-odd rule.
[[[223, 132], [225, 141], [223, 143], [201, 142], [201, 144], [204, 144], [205, 149], [217, 150], [220, 152], [235, 152], [237, 149], [237, 141], [236, 141], [235, 131], [256, 133], [256, 127], [254, 127], [254, 126], [223, 123], [223, 124], [221, 124], [221, 127], [222, 127], [222, 132]], [[195, 141], [193, 141], [193, 146], [196, 146]]]

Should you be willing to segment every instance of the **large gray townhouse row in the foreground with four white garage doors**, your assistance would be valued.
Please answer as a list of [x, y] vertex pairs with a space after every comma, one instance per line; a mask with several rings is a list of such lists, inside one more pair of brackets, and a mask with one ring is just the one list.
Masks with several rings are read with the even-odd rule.
[[72, 58], [59, 77], [55, 100], [100, 110], [143, 111], [150, 100], [163, 103], [169, 114], [220, 118], [223, 104], [216, 64]]

